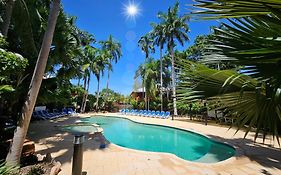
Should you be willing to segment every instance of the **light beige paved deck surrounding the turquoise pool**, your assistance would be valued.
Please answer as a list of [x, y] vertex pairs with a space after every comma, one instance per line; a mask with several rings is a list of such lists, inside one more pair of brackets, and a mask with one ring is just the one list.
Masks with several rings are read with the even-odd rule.
[[130, 120], [171, 126], [201, 133], [212, 139], [232, 145], [236, 155], [218, 163], [197, 163], [185, 161], [173, 154], [155, 153], [123, 148], [108, 144], [99, 149], [99, 140], [86, 137], [84, 143], [83, 171], [87, 175], [280, 175], [281, 148], [276, 140], [262, 137], [253, 142], [254, 133], [244, 138], [244, 131], [235, 134], [235, 129], [223, 126], [205, 126], [170, 119], [124, 116], [116, 113], [83, 114], [52, 121], [31, 123], [28, 137], [35, 142], [36, 152], [51, 153], [62, 163], [61, 175], [70, 175], [72, 168], [73, 135], [61, 130], [61, 125], [93, 115], [119, 116]]

